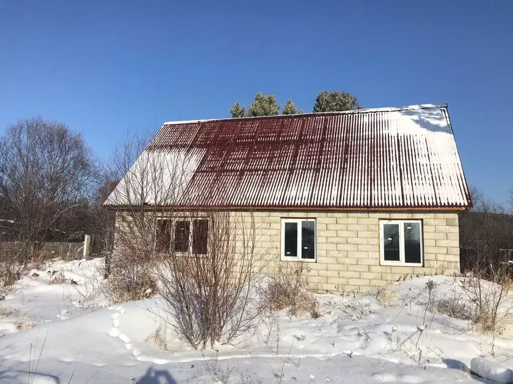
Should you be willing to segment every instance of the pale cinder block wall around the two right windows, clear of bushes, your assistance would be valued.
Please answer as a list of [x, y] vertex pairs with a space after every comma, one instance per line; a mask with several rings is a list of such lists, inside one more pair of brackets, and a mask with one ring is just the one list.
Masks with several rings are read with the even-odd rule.
[[[311, 288], [319, 292], [365, 292], [417, 275], [460, 272], [456, 212], [253, 212], [252, 215], [258, 232], [257, 244], [268, 254], [269, 266], [280, 260], [282, 218], [317, 219], [317, 262], [306, 263], [306, 268]], [[380, 265], [380, 219], [422, 220], [424, 267]]]

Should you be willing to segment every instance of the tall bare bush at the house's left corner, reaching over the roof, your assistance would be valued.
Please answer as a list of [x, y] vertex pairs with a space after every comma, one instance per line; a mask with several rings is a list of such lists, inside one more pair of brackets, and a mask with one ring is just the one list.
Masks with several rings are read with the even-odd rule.
[[166, 206], [176, 201], [183, 182], [186, 159], [146, 151], [151, 136], [149, 132], [129, 136], [113, 155], [111, 175], [121, 181], [107, 205], [123, 209], [114, 214], [114, 249], [106, 254], [106, 288], [116, 302], [154, 294], [155, 276], [149, 266], [162, 250], [159, 228]]

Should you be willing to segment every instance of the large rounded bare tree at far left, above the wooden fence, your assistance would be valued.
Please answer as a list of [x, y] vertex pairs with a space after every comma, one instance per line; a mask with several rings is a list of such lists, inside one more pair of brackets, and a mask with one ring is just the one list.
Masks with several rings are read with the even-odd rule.
[[12, 240], [66, 238], [81, 231], [97, 161], [80, 134], [61, 122], [19, 120], [0, 137], [0, 218]]

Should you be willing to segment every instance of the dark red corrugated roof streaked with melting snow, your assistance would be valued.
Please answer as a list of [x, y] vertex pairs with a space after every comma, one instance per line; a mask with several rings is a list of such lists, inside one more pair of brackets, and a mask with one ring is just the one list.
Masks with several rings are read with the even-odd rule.
[[203, 154], [180, 205], [379, 209], [470, 204], [447, 105], [169, 122], [146, 152], [177, 150]]

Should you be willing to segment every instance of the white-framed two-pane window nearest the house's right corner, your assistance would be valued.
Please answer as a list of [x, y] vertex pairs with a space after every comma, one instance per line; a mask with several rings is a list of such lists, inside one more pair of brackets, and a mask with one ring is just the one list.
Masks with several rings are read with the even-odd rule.
[[381, 220], [381, 265], [423, 266], [422, 221]]

